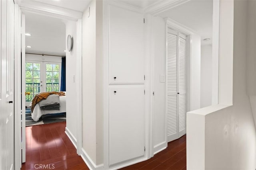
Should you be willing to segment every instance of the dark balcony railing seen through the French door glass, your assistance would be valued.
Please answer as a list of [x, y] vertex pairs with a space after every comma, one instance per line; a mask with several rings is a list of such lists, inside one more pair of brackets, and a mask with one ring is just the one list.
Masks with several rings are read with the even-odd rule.
[[[46, 83], [46, 92], [59, 92], [59, 83]], [[26, 95], [26, 102], [31, 102], [34, 96], [40, 93], [40, 83], [26, 83], [26, 92], [30, 92], [30, 95]]]

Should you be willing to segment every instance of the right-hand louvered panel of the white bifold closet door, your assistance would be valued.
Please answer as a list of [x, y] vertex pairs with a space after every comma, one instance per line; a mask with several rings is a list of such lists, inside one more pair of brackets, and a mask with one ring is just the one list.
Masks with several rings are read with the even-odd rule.
[[186, 134], [186, 36], [179, 33], [178, 137]]

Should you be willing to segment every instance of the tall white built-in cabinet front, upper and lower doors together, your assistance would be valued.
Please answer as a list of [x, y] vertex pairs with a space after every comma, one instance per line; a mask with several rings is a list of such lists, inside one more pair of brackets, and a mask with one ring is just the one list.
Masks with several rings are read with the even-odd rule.
[[109, 6], [109, 165], [144, 156], [143, 14]]

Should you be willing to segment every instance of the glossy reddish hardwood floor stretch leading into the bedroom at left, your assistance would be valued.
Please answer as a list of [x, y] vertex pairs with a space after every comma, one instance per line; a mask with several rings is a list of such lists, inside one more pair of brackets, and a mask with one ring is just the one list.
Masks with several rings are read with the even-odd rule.
[[26, 127], [26, 162], [21, 169], [35, 170], [43, 164], [44, 169], [88, 170], [64, 132], [65, 127], [66, 122]]

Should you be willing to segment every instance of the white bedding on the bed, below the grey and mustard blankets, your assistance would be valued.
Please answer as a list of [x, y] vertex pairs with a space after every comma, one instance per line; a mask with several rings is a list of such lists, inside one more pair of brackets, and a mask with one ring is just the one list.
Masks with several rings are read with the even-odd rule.
[[34, 121], [38, 121], [42, 115], [65, 113], [66, 112], [66, 96], [60, 96], [60, 110], [42, 110], [38, 104], [35, 105], [31, 117]]

